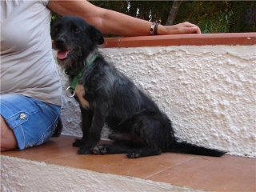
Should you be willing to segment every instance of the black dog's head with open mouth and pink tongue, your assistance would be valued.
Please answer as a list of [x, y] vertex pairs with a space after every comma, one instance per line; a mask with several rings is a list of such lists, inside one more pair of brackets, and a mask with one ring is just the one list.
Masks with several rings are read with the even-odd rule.
[[[51, 27], [53, 47], [58, 50], [58, 63], [66, 69], [78, 68], [78, 63], [104, 43], [103, 34], [94, 26], [78, 17], [65, 16]], [[81, 66], [80, 66], [81, 67]]]

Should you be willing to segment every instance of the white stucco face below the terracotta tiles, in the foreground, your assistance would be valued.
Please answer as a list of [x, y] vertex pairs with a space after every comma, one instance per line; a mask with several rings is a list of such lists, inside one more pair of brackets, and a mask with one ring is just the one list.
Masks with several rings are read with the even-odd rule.
[[140, 178], [102, 174], [90, 170], [55, 166], [22, 158], [1, 156], [1, 191], [166, 192], [202, 191]]

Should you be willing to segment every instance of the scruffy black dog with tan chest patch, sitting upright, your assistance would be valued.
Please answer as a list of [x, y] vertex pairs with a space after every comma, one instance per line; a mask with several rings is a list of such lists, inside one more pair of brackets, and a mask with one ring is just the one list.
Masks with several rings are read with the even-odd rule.
[[[158, 106], [98, 53], [102, 32], [82, 18], [63, 17], [51, 30], [58, 62], [70, 77], [71, 94], [80, 103], [82, 139], [78, 154], [123, 154], [138, 158], [180, 152], [222, 156], [187, 142], [177, 142], [170, 119]], [[72, 95], [73, 96], [73, 95]], [[102, 127], [112, 130], [114, 145], [97, 146]]]

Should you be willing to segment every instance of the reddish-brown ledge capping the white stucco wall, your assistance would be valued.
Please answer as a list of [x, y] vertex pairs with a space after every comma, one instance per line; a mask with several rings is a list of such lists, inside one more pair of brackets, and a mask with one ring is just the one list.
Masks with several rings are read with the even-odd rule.
[[105, 38], [102, 48], [142, 46], [251, 46], [256, 44], [256, 33], [230, 34], [171, 34]]

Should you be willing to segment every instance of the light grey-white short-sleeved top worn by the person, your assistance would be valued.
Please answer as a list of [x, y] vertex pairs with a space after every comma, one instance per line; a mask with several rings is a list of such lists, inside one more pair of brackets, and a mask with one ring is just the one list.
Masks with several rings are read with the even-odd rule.
[[62, 84], [50, 39], [48, 0], [1, 0], [1, 94], [61, 105]]

